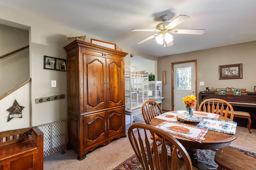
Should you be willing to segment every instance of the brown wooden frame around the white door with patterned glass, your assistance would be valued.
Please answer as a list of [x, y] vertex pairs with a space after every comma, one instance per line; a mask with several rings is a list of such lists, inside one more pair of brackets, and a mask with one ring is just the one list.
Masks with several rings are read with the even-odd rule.
[[[194, 66], [195, 66], [195, 96], [196, 98], [198, 98], [197, 96], [197, 60], [188, 60], [188, 61], [179, 61], [179, 62], [174, 62], [174, 63], [171, 63], [171, 75], [172, 75], [172, 78], [171, 78], [171, 83], [172, 83], [172, 110], [174, 110], [174, 82], [173, 82], [173, 73], [174, 73], [174, 70], [173, 70], [173, 67], [174, 67], [174, 64], [183, 64], [183, 63], [194, 63]], [[196, 107], [196, 110], [197, 110], [197, 107]]]

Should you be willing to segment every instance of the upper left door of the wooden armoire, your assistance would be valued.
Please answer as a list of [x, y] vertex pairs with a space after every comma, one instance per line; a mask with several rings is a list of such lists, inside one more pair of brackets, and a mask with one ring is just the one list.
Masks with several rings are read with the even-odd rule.
[[105, 59], [84, 54], [84, 106], [85, 111], [106, 108]]

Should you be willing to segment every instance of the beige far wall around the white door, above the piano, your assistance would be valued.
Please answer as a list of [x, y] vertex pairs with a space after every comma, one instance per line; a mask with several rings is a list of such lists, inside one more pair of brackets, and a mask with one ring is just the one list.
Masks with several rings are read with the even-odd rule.
[[[197, 60], [198, 92], [206, 87], [212, 88], [245, 88], [253, 92], [256, 86], [256, 41], [217, 47], [212, 49], [193, 51], [166, 57], [158, 60], [158, 79], [162, 79], [162, 71], [166, 70], [166, 85], [163, 85], [162, 109], [171, 110], [171, 63], [179, 61]], [[219, 80], [219, 65], [242, 63], [242, 79]], [[204, 82], [200, 86], [199, 82]], [[182, 102], [182, 101], [180, 101]]]

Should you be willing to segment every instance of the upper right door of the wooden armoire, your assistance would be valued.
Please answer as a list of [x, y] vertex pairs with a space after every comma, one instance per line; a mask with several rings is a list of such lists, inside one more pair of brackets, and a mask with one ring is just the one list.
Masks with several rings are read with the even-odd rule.
[[122, 64], [120, 60], [107, 59], [108, 107], [124, 105]]

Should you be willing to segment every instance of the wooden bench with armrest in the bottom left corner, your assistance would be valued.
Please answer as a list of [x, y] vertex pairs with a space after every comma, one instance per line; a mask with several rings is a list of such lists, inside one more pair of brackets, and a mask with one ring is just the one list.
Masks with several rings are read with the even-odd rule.
[[44, 134], [38, 127], [0, 132], [0, 170], [44, 168]]

